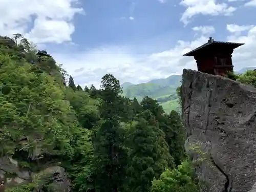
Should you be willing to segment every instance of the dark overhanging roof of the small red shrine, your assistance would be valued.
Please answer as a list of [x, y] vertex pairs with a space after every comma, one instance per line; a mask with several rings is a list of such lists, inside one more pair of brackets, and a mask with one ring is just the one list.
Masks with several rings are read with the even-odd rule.
[[194, 56], [195, 52], [199, 51], [199, 50], [202, 50], [206, 47], [209, 47], [210, 45], [229, 45], [229, 47], [231, 47], [232, 49], [236, 49], [238, 48], [239, 46], [242, 46], [244, 44], [240, 44], [238, 42], [225, 42], [225, 41], [216, 41], [214, 40], [212, 37], [209, 38], [208, 42], [206, 42], [206, 44], [192, 50], [192, 51], [189, 51], [188, 53], [184, 54], [183, 56]]

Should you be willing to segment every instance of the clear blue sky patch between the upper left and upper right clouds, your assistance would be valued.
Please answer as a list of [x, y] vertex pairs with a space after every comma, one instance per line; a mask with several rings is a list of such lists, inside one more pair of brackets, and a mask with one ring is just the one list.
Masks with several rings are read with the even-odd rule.
[[[87, 16], [76, 17], [73, 42], [87, 47], [126, 45], [138, 49], [139, 46], [143, 52], [143, 44], [148, 41], [156, 44], [161, 37], [182, 36], [179, 31], [183, 25], [179, 22], [180, 14], [174, 4], [160, 4], [156, 0], [136, 3], [127, 0], [94, 0], [84, 3], [84, 8]], [[172, 33], [173, 37], [170, 35]], [[152, 51], [154, 49], [152, 46]]]

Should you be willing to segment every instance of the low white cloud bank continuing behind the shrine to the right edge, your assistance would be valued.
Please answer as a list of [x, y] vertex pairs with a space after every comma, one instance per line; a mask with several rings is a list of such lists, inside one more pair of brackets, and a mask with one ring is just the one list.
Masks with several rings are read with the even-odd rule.
[[[196, 29], [203, 31], [206, 28], [207, 26], [202, 26]], [[232, 59], [235, 70], [256, 66], [254, 53], [256, 26], [245, 28], [234, 24], [227, 25], [227, 30], [231, 32], [226, 40], [245, 43], [234, 50]], [[240, 36], [238, 31], [244, 31], [246, 35]], [[99, 87], [100, 79], [106, 73], [112, 73], [121, 83], [126, 81], [140, 83], [171, 74], [181, 74], [184, 68], [196, 70], [194, 58], [183, 54], [205, 44], [207, 40], [208, 36], [205, 35], [192, 41], [178, 40], [173, 48], [150, 55], [137, 55], [126, 47], [103, 47], [81, 54], [53, 54], [53, 56], [58, 62], [63, 63], [75, 82], [81, 86], [95, 84]], [[75, 69], [79, 70], [75, 72]]]

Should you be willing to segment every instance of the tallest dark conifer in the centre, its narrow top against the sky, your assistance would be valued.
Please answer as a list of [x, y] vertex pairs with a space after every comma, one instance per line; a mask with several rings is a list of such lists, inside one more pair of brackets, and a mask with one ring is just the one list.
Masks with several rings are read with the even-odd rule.
[[124, 130], [119, 125], [121, 92], [119, 81], [111, 74], [102, 77], [101, 124], [94, 139], [96, 186], [99, 191], [120, 191], [125, 180], [126, 151]]

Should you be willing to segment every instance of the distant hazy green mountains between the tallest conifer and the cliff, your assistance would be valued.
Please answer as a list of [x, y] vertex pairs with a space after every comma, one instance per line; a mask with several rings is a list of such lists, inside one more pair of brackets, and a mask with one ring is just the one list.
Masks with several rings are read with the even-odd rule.
[[154, 79], [147, 83], [125, 82], [121, 84], [122, 95], [131, 99], [136, 97], [138, 101], [149, 96], [156, 99], [166, 113], [172, 110], [180, 111], [176, 89], [181, 85], [181, 78], [181, 75], [171, 75], [165, 79]]

